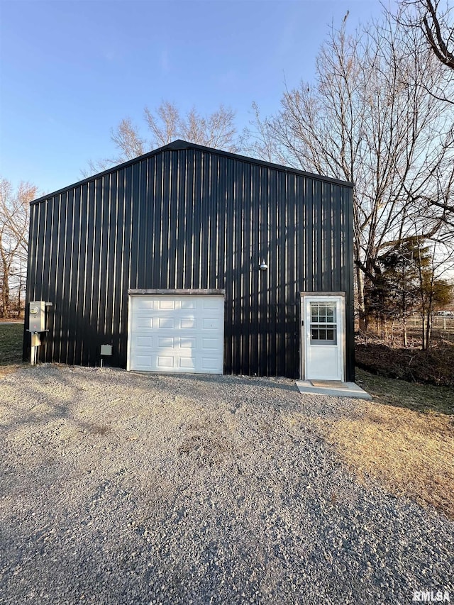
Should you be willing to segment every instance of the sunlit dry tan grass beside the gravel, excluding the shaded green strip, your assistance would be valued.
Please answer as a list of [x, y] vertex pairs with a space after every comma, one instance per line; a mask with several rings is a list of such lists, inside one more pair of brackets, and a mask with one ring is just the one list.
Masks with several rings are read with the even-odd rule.
[[361, 402], [354, 418], [319, 424], [358, 479], [375, 479], [454, 518], [452, 417]]

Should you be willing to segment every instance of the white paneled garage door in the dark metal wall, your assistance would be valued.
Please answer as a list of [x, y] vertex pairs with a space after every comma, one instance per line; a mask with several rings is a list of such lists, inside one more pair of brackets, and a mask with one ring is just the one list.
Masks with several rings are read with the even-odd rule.
[[223, 332], [223, 296], [130, 296], [128, 370], [222, 374]]

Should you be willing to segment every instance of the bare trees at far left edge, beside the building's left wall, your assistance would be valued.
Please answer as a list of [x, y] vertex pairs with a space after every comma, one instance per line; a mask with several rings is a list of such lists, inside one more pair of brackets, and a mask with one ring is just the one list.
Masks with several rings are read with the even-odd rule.
[[29, 203], [38, 188], [21, 182], [14, 191], [0, 179], [0, 316], [23, 311], [28, 255]]

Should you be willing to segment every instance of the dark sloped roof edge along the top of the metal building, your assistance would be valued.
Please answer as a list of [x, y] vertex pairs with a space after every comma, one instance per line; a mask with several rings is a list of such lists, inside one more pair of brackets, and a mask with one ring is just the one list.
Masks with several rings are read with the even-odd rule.
[[133, 160], [127, 160], [126, 162], [122, 162], [116, 166], [112, 166], [107, 170], [103, 170], [102, 172], [98, 172], [97, 174], [92, 174], [92, 176], [87, 177], [86, 179], [82, 179], [82, 181], [75, 182], [73, 184], [67, 185], [67, 187], [62, 187], [61, 189], [57, 189], [55, 192], [50, 192], [43, 196], [38, 197], [30, 202], [30, 204], [38, 204], [40, 201], [45, 201], [50, 197], [61, 194], [68, 189], [73, 189], [74, 187], [80, 187], [81, 185], [87, 184], [90, 181], [94, 181], [95, 179], [99, 179], [99, 177], [104, 177], [104, 175], [109, 174], [111, 172], [115, 172], [116, 170], [121, 170], [122, 168], [126, 168], [135, 164], [136, 162], [140, 162], [141, 160], [146, 160], [148, 157], [153, 157], [153, 155], [157, 155], [163, 151], [167, 150], [188, 150], [195, 149], [206, 153], [214, 153], [216, 155], [222, 155], [223, 157], [230, 157], [233, 160], [240, 160], [241, 162], [248, 162], [249, 164], [265, 166], [268, 168], [274, 168], [275, 170], [280, 170], [283, 172], [290, 172], [292, 174], [299, 174], [302, 177], [309, 177], [311, 179], [316, 179], [319, 181], [326, 181], [330, 183], [336, 183], [343, 185], [344, 187], [353, 187], [353, 183], [348, 181], [343, 181], [341, 179], [333, 179], [332, 177], [323, 177], [321, 174], [315, 174], [314, 172], [306, 172], [304, 170], [298, 170], [297, 168], [292, 168], [289, 166], [283, 166], [279, 164], [273, 164], [272, 162], [265, 162], [265, 160], [257, 160], [254, 157], [247, 157], [245, 155], [239, 155], [238, 153], [231, 153], [229, 151], [223, 151], [220, 149], [214, 149], [211, 147], [205, 147], [204, 145], [197, 145], [196, 143], [189, 143], [187, 140], [177, 139], [172, 141], [172, 143], [168, 143], [167, 145], [162, 145], [162, 147], [158, 147], [153, 151], [148, 151], [143, 155], [139, 155], [138, 157], [134, 157]]

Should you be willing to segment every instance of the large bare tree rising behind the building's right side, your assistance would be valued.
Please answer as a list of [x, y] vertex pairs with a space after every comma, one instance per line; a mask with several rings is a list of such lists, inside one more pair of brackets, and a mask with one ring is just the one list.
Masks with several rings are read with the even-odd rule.
[[[416, 29], [388, 16], [347, 35], [344, 21], [340, 30], [331, 29], [321, 48], [315, 82], [287, 89], [281, 111], [256, 131], [259, 139], [263, 132], [272, 137], [283, 163], [354, 182], [362, 327], [365, 280], [374, 281], [380, 253], [411, 238], [415, 221], [424, 238], [446, 225], [443, 199], [452, 189], [453, 113], [426, 90], [438, 82], [440, 68], [421, 52]], [[267, 140], [264, 147], [270, 148]]]

